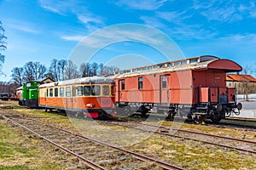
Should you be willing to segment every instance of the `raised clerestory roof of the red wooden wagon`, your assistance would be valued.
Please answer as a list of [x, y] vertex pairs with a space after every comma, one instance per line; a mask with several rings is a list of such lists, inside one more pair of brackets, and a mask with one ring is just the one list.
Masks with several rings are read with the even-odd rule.
[[114, 78], [136, 77], [150, 74], [164, 74], [174, 71], [185, 70], [224, 70], [226, 72], [241, 71], [241, 65], [230, 59], [220, 59], [212, 55], [204, 55], [189, 59], [180, 59], [156, 65], [147, 65], [133, 69], [117, 71]]

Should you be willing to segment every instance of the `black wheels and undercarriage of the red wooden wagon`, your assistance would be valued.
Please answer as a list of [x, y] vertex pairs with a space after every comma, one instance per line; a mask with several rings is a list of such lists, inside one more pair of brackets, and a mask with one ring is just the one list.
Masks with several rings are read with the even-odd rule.
[[205, 104], [205, 105], [165, 105], [148, 103], [119, 103], [117, 104], [117, 114], [121, 116], [131, 116], [134, 112], [140, 112], [142, 116], [147, 113], [163, 113], [168, 120], [175, 117], [188, 118], [196, 123], [204, 122], [206, 119], [217, 123], [229, 117], [231, 113], [240, 114], [241, 103], [232, 104]]

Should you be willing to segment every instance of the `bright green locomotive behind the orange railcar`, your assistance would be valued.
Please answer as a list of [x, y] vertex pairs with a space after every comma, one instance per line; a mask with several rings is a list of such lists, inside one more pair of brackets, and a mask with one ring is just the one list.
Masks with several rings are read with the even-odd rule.
[[41, 84], [44, 84], [44, 82], [36, 80], [25, 82], [22, 89], [22, 99], [19, 99], [19, 105], [38, 108], [38, 86]]

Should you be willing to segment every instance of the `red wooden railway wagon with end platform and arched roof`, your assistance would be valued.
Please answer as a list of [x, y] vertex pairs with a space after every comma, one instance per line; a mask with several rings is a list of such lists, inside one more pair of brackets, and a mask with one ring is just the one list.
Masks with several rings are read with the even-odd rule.
[[118, 71], [115, 100], [128, 113], [164, 111], [170, 118], [218, 122], [241, 110], [236, 89], [226, 88], [226, 73], [234, 71], [241, 66], [209, 55]]

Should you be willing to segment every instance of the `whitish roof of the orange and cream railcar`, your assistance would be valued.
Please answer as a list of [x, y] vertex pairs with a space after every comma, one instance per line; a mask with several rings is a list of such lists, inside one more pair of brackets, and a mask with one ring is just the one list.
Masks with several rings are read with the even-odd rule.
[[64, 86], [64, 85], [72, 85], [72, 84], [82, 84], [82, 83], [114, 83], [113, 78], [111, 77], [82, 77], [71, 80], [65, 80], [61, 82], [49, 82], [46, 84], [42, 84], [39, 88], [46, 87], [55, 87], [55, 86]]

